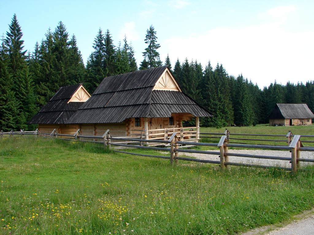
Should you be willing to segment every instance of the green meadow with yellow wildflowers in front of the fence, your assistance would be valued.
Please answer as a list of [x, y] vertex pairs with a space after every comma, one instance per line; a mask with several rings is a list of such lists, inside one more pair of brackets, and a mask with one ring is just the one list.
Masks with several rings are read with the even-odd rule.
[[312, 171], [171, 167], [51, 138], [0, 138], [0, 180], [0, 234], [236, 234], [314, 205]]

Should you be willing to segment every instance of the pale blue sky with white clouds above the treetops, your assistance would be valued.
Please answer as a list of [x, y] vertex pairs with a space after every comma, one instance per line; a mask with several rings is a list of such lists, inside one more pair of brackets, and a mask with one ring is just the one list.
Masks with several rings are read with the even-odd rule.
[[197, 60], [222, 64], [229, 75], [242, 74], [263, 89], [274, 81], [286, 84], [314, 80], [314, 1], [5, 1], [0, 0], [0, 35], [17, 14], [25, 49], [33, 51], [59, 21], [75, 34], [86, 63], [101, 28], [114, 44], [127, 36], [137, 64], [146, 30], [153, 25], [160, 59], [172, 66]]

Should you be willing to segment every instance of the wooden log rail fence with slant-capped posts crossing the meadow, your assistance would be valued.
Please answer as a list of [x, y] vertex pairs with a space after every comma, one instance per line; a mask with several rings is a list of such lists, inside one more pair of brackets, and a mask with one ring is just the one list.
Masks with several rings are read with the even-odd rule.
[[[198, 143], [198, 142], [187, 142], [181, 141], [180, 135], [178, 133], [173, 132], [171, 137], [167, 140], [165, 139], [142, 139], [136, 137], [112, 137], [110, 135], [109, 130], [107, 130], [102, 136], [89, 136], [89, 135], [81, 135], [80, 130], [78, 129], [73, 135], [70, 134], [58, 134], [54, 129], [51, 133], [40, 133], [38, 129], [35, 131], [24, 131], [20, 130], [19, 132], [14, 132], [11, 130], [10, 132], [3, 132], [0, 131], [0, 137], [4, 135], [14, 136], [14, 135], [34, 135], [34, 136], [49, 136], [49, 137], [62, 137], [63, 140], [80, 140], [84, 142], [93, 142], [97, 144], [104, 144], [104, 147], [111, 147], [114, 146], [114, 152], [123, 153], [123, 154], [131, 154], [137, 156], [146, 156], [146, 157], [155, 157], [155, 158], [164, 158], [170, 159], [170, 163], [177, 164], [178, 160], [185, 160], [185, 161], [194, 161], [194, 162], [202, 162], [202, 163], [211, 163], [211, 164], [219, 164], [222, 169], [228, 169], [228, 166], [246, 166], [246, 167], [259, 167], [259, 168], [278, 168], [283, 170], [291, 170], [292, 172], [296, 172], [300, 168], [300, 162], [314, 162], [314, 159], [305, 159], [301, 158], [302, 151], [311, 151], [314, 152], [314, 147], [305, 147], [302, 144], [301, 138], [302, 137], [314, 137], [314, 135], [293, 135], [289, 132], [286, 135], [267, 135], [267, 134], [238, 134], [238, 133], [229, 133], [226, 130], [224, 133], [201, 133], [207, 135], [217, 135], [222, 134], [219, 137], [218, 143]], [[234, 139], [230, 138], [230, 135], [243, 135], [243, 136], [272, 136], [272, 137], [286, 137], [285, 140], [288, 143], [288, 146], [284, 145], [270, 145], [270, 144], [243, 144], [243, 143], [230, 143], [229, 141]], [[70, 138], [65, 138], [70, 137]], [[207, 136], [205, 138], [208, 138]], [[216, 138], [216, 137], [215, 137]], [[217, 137], [218, 138], [218, 137]], [[87, 139], [87, 140], [86, 140]], [[88, 140], [93, 139], [93, 140]], [[98, 139], [98, 141], [96, 141]], [[244, 138], [241, 138], [244, 140]], [[257, 140], [257, 139], [250, 139], [246, 138], [245, 140]], [[259, 139], [258, 139], [259, 140]], [[114, 142], [116, 141], [116, 142]], [[120, 142], [118, 142], [120, 141]], [[273, 141], [270, 139], [263, 139], [262, 141]], [[278, 140], [276, 140], [277, 142]], [[283, 141], [282, 141], [283, 142]], [[311, 141], [306, 141], [311, 142]], [[155, 143], [160, 145], [165, 145], [166, 147], [150, 147], [145, 146], [149, 143]], [[311, 142], [311, 143], [314, 143]], [[219, 152], [215, 151], [208, 151], [208, 150], [197, 150], [197, 149], [181, 149], [180, 147], [188, 145], [188, 146], [210, 146], [210, 147], [218, 147]], [[169, 151], [170, 156], [162, 156], [162, 155], [152, 155], [152, 154], [140, 154], [135, 152], [128, 152], [118, 150], [116, 148], [135, 148], [135, 149], [150, 149], [150, 150], [161, 150], [161, 151]], [[240, 154], [240, 153], [229, 153], [228, 148], [244, 148], [244, 149], [271, 149], [271, 150], [285, 150], [291, 152], [291, 157], [279, 157], [279, 156], [266, 156], [266, 155], [254, 155], [254, 154]], [[179, 153], [198, 153], [198, 154], [213, 154], [218, 155], [220, 160], [206, 160], [206, 159], [195, 159], [195, 158], [187, 158], [187, 157], [180, 157]], [[267, 165], [254, 165], [254, 164], [246, 164], [246, 163], [239, 163], [239, 162], [230, 162], [229, 156], [234, 157], [245, 157], [245, 158], [255, 158], [255, 159], [273, 159], [273, 160], [283, 160], [283, 161], [290, 161], [291, 167], [276, 167], [276, 166], [267, 166]]]

